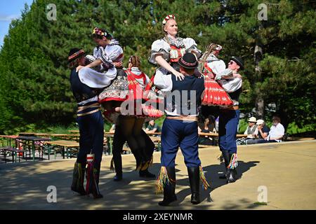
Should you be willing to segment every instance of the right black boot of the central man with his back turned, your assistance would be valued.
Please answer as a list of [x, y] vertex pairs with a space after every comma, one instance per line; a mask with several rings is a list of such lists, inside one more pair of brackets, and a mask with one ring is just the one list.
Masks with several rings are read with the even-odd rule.
[[199, 167], [187, 167], [187, 174], [189, 174], [191, 187], [191, 203], [199, 204]]

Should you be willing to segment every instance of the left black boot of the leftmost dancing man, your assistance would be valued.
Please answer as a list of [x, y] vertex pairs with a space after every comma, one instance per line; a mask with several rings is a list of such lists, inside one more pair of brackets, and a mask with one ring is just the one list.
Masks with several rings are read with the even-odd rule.
[[84, 172], [86, 170], [86, 165], [76, 162], [74, 164], [74, 173], [72, 176], [72, 187], [74, 192], [80, 195], [86, 195], [86, 190], [84, 190]]

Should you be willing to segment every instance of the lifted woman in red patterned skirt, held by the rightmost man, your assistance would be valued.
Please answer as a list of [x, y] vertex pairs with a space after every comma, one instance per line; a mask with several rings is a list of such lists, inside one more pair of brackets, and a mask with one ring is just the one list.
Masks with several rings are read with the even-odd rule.
[[227, 75], [225, 62], [218, 59], [222, 46], [211, 43], [207, 46], [199, 63], [199, 71], [204, 75], [205, 92], [202, 105], [206, 106], [230, 106], [232, 100], [216, 80]]

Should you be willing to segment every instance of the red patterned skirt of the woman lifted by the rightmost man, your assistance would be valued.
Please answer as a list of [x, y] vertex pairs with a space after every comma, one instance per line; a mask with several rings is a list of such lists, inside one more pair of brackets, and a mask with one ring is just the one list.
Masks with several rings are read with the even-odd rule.
[[216, 80], [204, 75], [204, 97], [202, 105], [206, 106], [230, 106], [232, 99], [228, 93], [221, 87]]

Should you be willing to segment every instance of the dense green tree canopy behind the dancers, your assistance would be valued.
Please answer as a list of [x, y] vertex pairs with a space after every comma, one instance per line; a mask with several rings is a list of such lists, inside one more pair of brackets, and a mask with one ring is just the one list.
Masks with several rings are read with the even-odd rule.
[[[92, 52], [93, 27], [103, 27], [129, 55], [142, 58], [143, 70], [154, 40], [163, 36], [162, 20], [176, 15], [179, 35], [195, 38], [204, 50], [211, 42], [223, 45], [245, 62], [242, 73], [244, 113], [256, 107], [257, 117], [282, 116], [287, 127], [315, 128], [315, 1], [273, 1], [267, 20], [258, 20], [261, 1], [89, 1], [55, 0], [56, 20], [48, 20], [48, 0], [35, 0], [11, 22], [0, 51], [0, 132], [26, 125], [70, 124], [76, 104], [70, 91], [67, 54], [81, 47]], [[275, 105], [271, 110], [271, 105]]]

